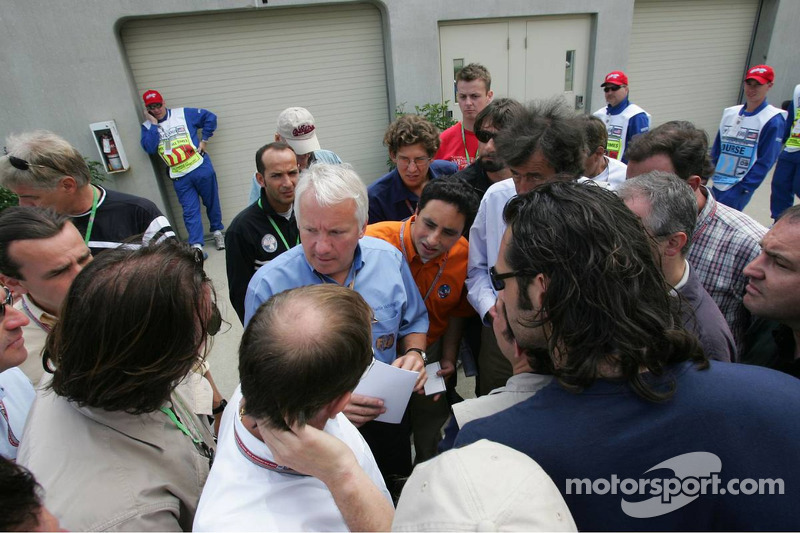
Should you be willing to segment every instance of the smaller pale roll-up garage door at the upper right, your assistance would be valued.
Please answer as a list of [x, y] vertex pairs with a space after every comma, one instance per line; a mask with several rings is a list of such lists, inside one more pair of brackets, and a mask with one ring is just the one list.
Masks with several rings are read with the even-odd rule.
[[631, 101], [654, 125], [691, 120], [715, 135], [722, 110], [740, 103], [757, 12], [758, 0], [636, 0]]

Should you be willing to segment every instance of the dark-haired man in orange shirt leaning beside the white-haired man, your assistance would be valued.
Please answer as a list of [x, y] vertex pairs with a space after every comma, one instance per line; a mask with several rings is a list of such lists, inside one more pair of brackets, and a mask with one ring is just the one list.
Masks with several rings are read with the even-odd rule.
[[[428, 362], [439, 361], [438, 375], [445, 379], [455, 373], [462, 317], [474, 314], [467, 300], [469, 244], [463, 235], [477, 211], [472, 187], [443, 178], [425, 186], [411, 218], [367, 226], [367, 235], [394, 245], [408, 262], [428, 310]], [[447, 402], [433, 398], [415, 394], [409, 405], [417, 463], [435, 455], [450, 415]]]

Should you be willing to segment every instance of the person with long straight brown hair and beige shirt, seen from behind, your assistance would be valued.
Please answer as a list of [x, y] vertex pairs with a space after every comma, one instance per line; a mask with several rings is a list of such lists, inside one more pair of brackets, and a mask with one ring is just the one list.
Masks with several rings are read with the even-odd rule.
[[109, 250], [70, 288], [19, 454], [68, 529], [191, 528], [215, 446], [176, 388], [219, 328], [201, 253]]

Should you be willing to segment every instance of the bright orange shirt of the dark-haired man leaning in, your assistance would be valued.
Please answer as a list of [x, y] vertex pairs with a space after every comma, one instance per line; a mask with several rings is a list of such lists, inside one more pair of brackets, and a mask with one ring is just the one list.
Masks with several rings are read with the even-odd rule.
[[[405, 224], [403, 230], [403, 241], [405, 244], [405, 258], [411, 275], [417, 283], [417, 288], [423, 298], [425, 307], [428, 309], [428, 346], [436, 342], [444, 335], [447, 329], [447, 322], [451, 316], [466, 317], [475, 314], [475, 310], [467, 301], [467, 258], [469, 256], [469, 243], [467, 239], [461, 237], [446, 254], [440, 255], [436, 259], [423, 263], [414, 243], [411, 240], [411, 225], [416, 217], [411, 217], [405, 222], [378, 222], [367, 226], [367, 235], [382, 239], [398, 250], [403, 252], [400, 245], [400, 228]], [[444, 265], [442, 274], [436, 279], [440, 267]], [[430, 292], [428, 292], [430, 291]]]

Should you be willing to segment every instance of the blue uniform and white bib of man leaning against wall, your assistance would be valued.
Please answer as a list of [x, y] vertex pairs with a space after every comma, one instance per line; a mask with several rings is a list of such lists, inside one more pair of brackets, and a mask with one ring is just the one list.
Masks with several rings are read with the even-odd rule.
[[[212, 232], [223, 229], [219, 204], [217, 175], [208, 154], [198, 151], [200, 142], [208, 140], [217, 129], [217, 116], [207, 109], [181, 107], [167, 109], [167, 114], [154, 125], [142, 123], [141, 145], [144, 151], [158, 155], [169, 167], [169, 177], [183, 207], [183, 221], [189, 232], [189, 244], [203, 244], [203, 220], [200, 200], [206, 206]], [[198, 140], [197, 130], [202, 130]]]

